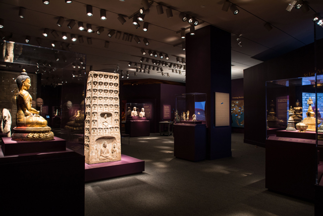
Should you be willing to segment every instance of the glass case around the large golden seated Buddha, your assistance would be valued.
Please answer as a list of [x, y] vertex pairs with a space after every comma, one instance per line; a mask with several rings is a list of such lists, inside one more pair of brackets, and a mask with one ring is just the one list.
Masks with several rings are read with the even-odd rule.
[[0, 40], [2, 103], [16, 126], [16, 78], [25, 69], [31, 78], [28, 90], [32, 107], [40, 111], [56, 137], [83, 143], [86, 55]]

